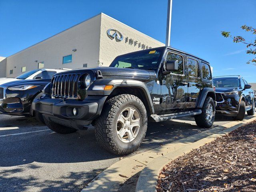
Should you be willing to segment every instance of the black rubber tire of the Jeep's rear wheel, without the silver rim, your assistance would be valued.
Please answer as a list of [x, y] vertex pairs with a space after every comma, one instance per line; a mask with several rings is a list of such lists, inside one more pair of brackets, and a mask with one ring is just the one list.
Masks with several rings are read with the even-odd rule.
[[[213, 115], [210, 122], [206, 119], [206, 110], [207, 110], [208, 104], [211, 104], [213, 109]], [[199, 126], [200, 128], [210, 128], [212, 126], [215, 119], [215, 104], [214, 104], [214, 100], [211, 97], [206, 97], [204, 101], [204, 105], [202, 107], [202, 113], [199, 115], [195, 115], [194, 118], [197, 126]]]

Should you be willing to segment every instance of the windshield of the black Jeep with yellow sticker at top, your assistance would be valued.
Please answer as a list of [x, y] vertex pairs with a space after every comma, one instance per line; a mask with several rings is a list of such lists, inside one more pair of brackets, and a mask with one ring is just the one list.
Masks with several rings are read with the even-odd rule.
[[118, 56], [110, 64], [110, 67], [130, 69], [158, 68], [162, 50], [145, 50], [136, 53]]

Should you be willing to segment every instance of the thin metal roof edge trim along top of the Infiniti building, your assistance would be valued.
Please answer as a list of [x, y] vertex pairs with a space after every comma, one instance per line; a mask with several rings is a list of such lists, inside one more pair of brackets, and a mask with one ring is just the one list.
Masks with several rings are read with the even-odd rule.
[[[71, 29], [71, 28], [73, 28], [73, 27], [75, 27], [75, 26], [77, 26], [77, 25], [80, 25], [80, 24], [82, 24], [82, 23], [84, 23], [84, 22], [86, 22], [86, 21], [88, 21], [88, 20], [90, 20], [90, 19], [92, 19], [92, 18], [94, 18], [94, 17], [96, 17], [96, 16], [99, 16], [99, 15], [104, 15], [104, 16], [106, 16], [106, 17], [108, 17], [108, 18], [110, 18], [110, 19], [112, 19], [112, 20], [114, 20], [114, 21], [116, 21], [116, 22], [118, 22], [118, 23], [124, 25], [124, 26], [127, 26], [128, 28], [131, 28], [132, 30], [135, 30], [136, 32], [139, 32], [140, 34], [143, 34], [144, 36], [147, 36], [148, 38], [151, 38], [151, 39], [153, 39], [153, 40], [155, 40], [155, 41], [157, 41], [157, 42], [160, 42], [160, 41], [158, 41], [158, 40], [156, 40], [156, 39], [154, 39], [154, 38], [152, 38], [152, 37], [150, 37], [150, 36], [148, 36], [148, 35], [146, 35], [146, 34], [140, 32], [140, 31], [138, 31], [138, 30], [136, 30], [136, 29], [134, 29], [134, 28], [132, 28], [132, 27], [130, 27], [130, 26], [128, 26], [128, 25], [126, 25], [126, 24], [124, 24], [124, 23], [122, 23], [122, 22], [120, 22], [120, 21], [118, 21], [118, 20], [116, 20], [116, 19], [114, 19], [114, 18], [112, 18], [112, 17], [110, 17], [110, 16], [108, 16], [108, 15], [102, 13], [102, 12], [100, 12], [99, 14], [96, 14], [95, 16], [92, 16], [92, 17], [90, 17], [90, 18], [88, 18], [88, 19], [86, 19], [86, 20], [83, 20], [82, 22], [79, 22], [78, 24], [75, 24], [75, 25], [73, 25], [73, 26], [71, 26], [71, 27], [69, 27], [69, 28], [67, 28], [67, 29], [65, 29], [65, 30], [63, 30], [63, 31], [61, 31], [61, 32], [58, 32], [57, 34], [54, 34], [54, 35], [52, 35], [52, 36], [50, 36], [50, 37], [48, 37], [48, 38], [46, 38], [46, 39], [44, 39], [44, 40], [42, 40], [42, 41], [36, 43], [36, 44], [33, 44], [33, 45], [31, 45], [31, 46], [29, 46], [29, 47], [27, 47], [27, 48], [24, 48], [24, 49], [22, 49], [22, 50], [20, 50], [20, 51], [18, 51], [18, 52], [16, 52], [16, 53], [14, 53], [14, 54], [8, 56], [8, 57], [14, 56], [14, 55], [16, 55], [16, 54], [18, 54], [18, 53], [20, 53], [20, 52], [22, 52], [22, 51], [24, 51], [24, 50], [26, 50], [26, 49], [32, 47], [32, 46], [35, 46], [35, 45], [37, 45], [37, 44], [40, 44], [41, 42], [44, 42], [44, 41], [46, 41], [46, 40], [48, 40], [48, 39], [50, 39], [50, 38], [52, 38], [52, 37], [54, 37], [54, 36], [56, 36], [56, 35], [62, 33], [62, 32], [65, 32], [66, 30], [69, 30], [69, 29]], [[163, 42], [160, 42], [160, 43], [164, 44]]]

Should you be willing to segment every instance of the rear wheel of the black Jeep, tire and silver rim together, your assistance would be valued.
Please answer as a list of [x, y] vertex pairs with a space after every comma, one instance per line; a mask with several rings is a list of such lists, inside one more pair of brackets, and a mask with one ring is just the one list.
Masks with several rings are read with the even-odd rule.
[[196, 124], [201, 128], [210, 128], [215, 118], [215, 104], [211, 97], [206, 97], [202, 113], [195, 115]]

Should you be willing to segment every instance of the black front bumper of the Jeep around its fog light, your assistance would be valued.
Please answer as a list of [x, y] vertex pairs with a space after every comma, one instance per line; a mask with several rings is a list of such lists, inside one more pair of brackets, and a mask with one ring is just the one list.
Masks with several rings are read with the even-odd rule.
[[[83, 129], [100, 115], [106, 97], [94, 97], [84, 101], [46, 97], [34, 100], [32, 109], [42, 113], [51, 122]], [[74, 108], [78, 111], [77, 115], [72, 113]]]

